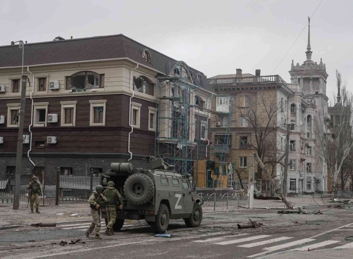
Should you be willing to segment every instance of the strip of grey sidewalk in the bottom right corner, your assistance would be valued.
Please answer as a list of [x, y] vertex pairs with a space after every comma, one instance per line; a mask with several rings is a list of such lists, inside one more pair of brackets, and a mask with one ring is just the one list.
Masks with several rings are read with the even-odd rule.
[[268, 259], [352, 259], [353, 249], [323, 249], [314, 251], [285, 251], [264, 257]]

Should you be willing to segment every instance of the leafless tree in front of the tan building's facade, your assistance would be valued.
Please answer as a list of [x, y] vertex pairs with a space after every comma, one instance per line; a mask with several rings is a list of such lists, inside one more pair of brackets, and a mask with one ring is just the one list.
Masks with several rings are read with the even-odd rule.
[[[276, 131], [283, 127], [283, 122], [277, 120], [278, 112], [282, 109], [283, 104], [278, 102], [277, 95], [263, 93], [249, 96], [247, 107], [237, 107], [241, 120], [247, 122], [247, 126], [251, 127], [255, 135], [255, 143], [252, 146], [257, 151], [263, 163], [267, 152], [271, 152], [273, 156], [274, 150], [277, 149], [273, 143], [277, 142]], [[277, 156], [277, 155], [275, 155]], [[277, 161], [277, 159], [276, 159]], [[258, 166], [258, 176], [262, 178], [262, 169]]]

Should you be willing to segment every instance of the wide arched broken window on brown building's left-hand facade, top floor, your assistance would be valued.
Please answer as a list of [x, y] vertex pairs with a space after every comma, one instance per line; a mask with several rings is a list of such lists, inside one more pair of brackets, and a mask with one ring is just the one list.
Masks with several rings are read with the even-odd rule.
[[66, 77], [66, 89], [92, 89], [104, 87], [104, 74], [82, 71]]

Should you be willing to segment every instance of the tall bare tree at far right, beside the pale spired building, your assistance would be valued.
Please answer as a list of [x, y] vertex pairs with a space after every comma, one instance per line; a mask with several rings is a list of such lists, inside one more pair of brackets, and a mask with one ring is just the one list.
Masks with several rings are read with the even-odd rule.
[[[353, 147], [353, 95], [342, 83], [341, 74], [336, 70], [337, 99], [333, 110], [335, 123], [330, 126], [330, 134], [324, 120], [324, 111], [315, 120], [316, 150], [319, 157], [329, 168], [333, 178], [333, 193], [337, 190], [338, 174]], [[333, 196], [334, 198], [334, 196]]]

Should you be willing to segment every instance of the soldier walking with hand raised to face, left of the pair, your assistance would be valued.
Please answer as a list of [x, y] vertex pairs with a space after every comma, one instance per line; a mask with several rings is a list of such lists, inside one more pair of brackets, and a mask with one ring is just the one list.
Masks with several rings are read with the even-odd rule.
[[104, 202], [106, 201], [106, 197], [103, 195], [103, 186], [97, 185], [96, 190], [94, 190], [89, 196], [88, 203], [91, 207], [91, 215], [93, 218], [93, 222], [90, 224], [86, 231], [86, 237], [89, 238], [89, 234], [92, 233], [93, 229], [96, 234], [96, 239], [102, 239], [99, 235], [99, 230], [101, 229], [101, 221], [99, 218], [99, 208], [104, 206]]

